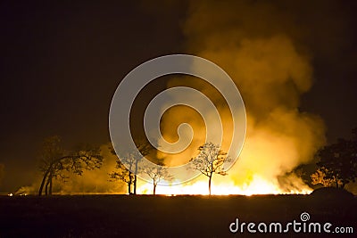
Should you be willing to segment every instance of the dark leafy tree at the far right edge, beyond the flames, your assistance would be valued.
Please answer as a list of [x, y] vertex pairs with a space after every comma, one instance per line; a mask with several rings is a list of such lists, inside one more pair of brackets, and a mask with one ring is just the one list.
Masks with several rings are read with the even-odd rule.
[[333, 180], [337, 188], [354, 182], [357, 177], [357, 130], [353, 129], [353, 139], [338, 139], [336, 144], [323, 147], [318, 157], [317, 165], [323, 179]]

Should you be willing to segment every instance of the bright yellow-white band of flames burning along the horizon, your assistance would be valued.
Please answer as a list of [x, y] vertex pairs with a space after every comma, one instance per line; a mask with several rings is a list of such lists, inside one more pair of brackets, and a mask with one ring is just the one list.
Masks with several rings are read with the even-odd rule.
[[[150, 183], [138, 186], [139, 194], [152, 194], [153, 185]], [[163, 195], [179, 195], [179, 194], [199, 194], [208, 195], [208, 181], [200, 179], [192, 184], [185, 185], [162, 185], [156, 188], [157, 194]], [[308, 194], [311, 193], [311, 188], [302, 187], [294, 190], [282, 190], [278, 184], [269, 180], [263, 179], [261, 176], [253, 176], [252, 181], [243, 185], [235, 185], [233, 182], [214, 183], [212, 181], [212, 195], [253, 195], [253, 194]]]

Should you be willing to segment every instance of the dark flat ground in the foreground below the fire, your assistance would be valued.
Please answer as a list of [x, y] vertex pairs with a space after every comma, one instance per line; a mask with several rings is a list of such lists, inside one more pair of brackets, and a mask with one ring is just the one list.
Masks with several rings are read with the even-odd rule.
[[[354, 234], [233, 234], [239, 222], [331, 223]], [[257, 227], [254, 227], [257, 229]], [[357, 237], [357, 200], [311, 195], [0, 197], [0, 237]]]

